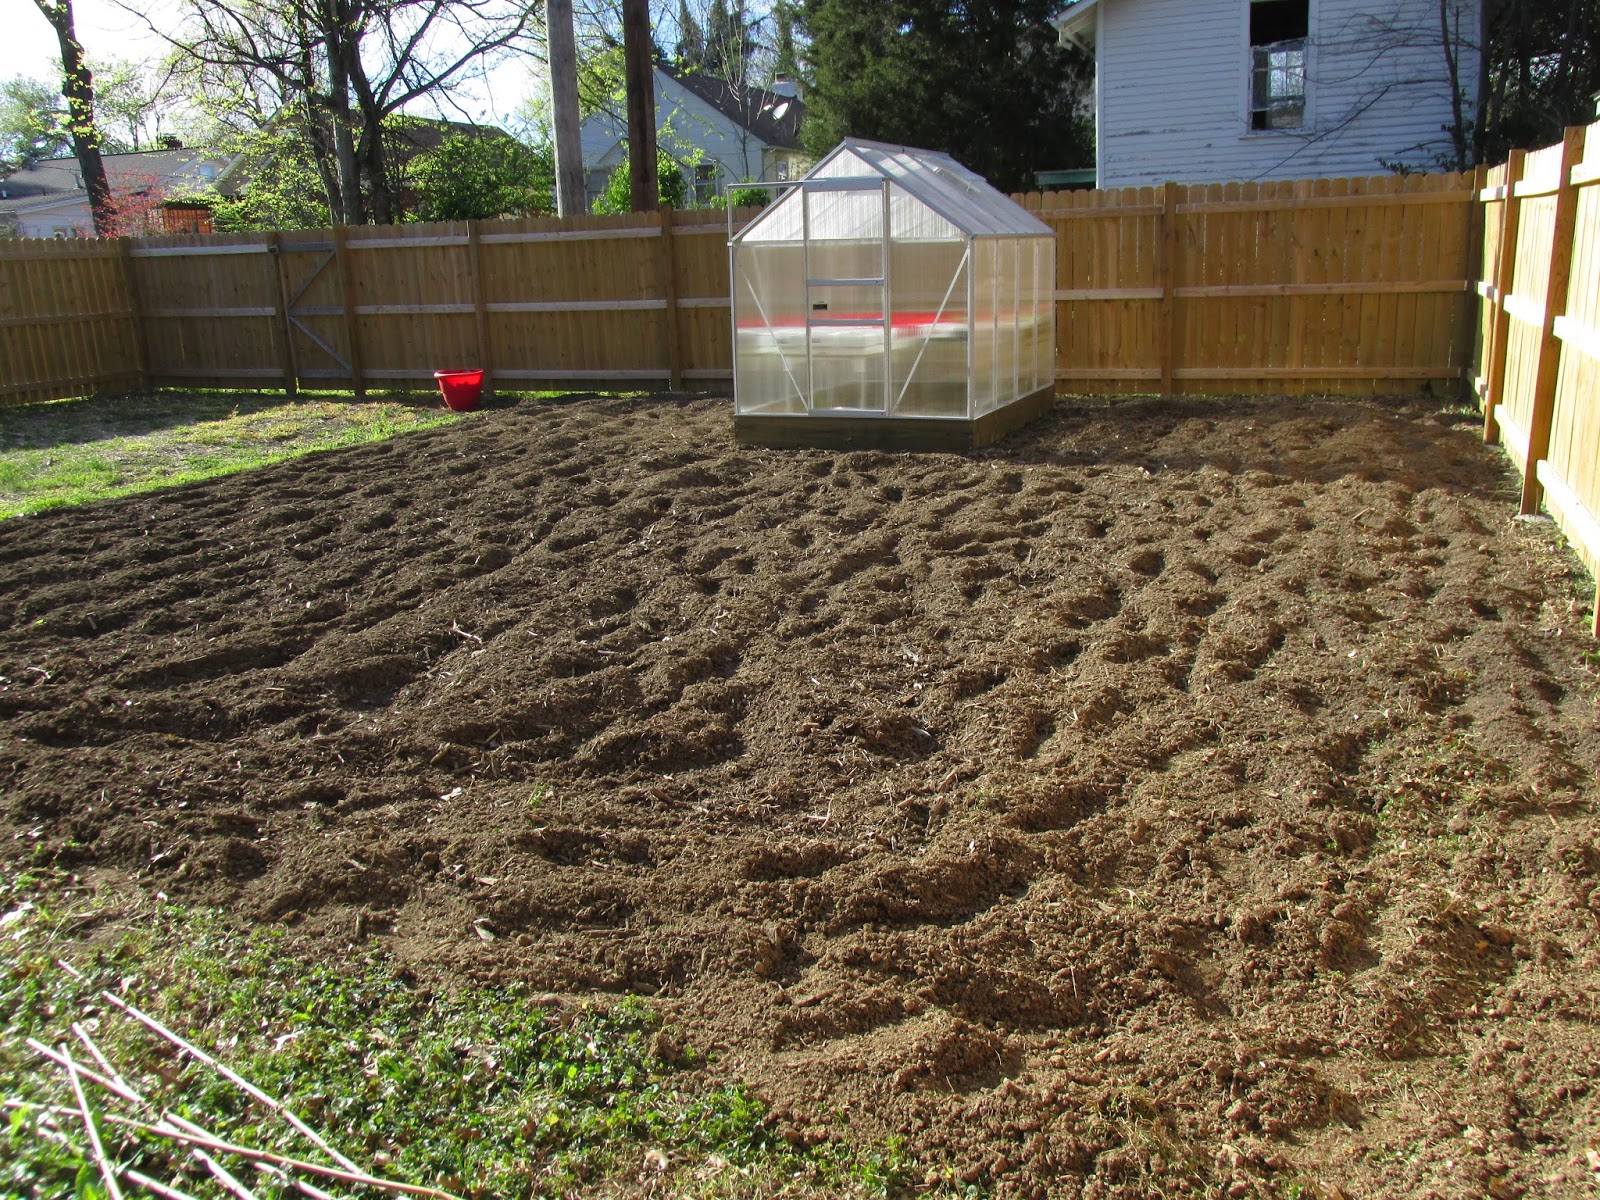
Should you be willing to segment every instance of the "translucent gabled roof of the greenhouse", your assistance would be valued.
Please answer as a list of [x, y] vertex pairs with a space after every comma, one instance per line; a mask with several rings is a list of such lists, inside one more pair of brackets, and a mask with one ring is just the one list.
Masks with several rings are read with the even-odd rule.
[[[955, 162], [947, 154], [918, 150], [910, 146], [886, 146], [858, 138], [846, 138], [827, 157], [806, 171], [802, 184], [819, 179], [888, 179], [909, 197], [942, 218], [938, 224], [946, 237], [1053, 237], [1053, 230], [1008, 195]], [[798, 237], [798, 221], [782, 219], [781, 210], [798, 202], [800, 189], [778, 200], [738, 234], [734, 240], [760, 230], [760, 240]], [[789, 216], [789, 214], [784, 214]], [[779, 218], [779, 219], [773, 219]], [[896, 221], [896, 226], [901, 222]], [[926, 226], [926, 222], [917, 222]], [[933, 234], [931, 229], [923, 229]]]

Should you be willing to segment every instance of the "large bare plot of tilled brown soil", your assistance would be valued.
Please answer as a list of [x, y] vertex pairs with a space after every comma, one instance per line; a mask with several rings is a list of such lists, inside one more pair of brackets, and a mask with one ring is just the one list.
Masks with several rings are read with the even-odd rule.
[[[0, 528], [3, 853], [998, 1195], [1594, 1195], [1581, 581], [1426, 402], [574, 398]], [[1296, 1192], [1294, 1189], [1301, 1190]]]

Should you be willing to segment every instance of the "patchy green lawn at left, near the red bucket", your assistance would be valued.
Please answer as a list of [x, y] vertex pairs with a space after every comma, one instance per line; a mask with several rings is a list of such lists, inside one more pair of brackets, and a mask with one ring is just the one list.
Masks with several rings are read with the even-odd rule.
[[0, 408], [0, 518], [381, 442], [462, 414], [426, 397], [134, 392]]

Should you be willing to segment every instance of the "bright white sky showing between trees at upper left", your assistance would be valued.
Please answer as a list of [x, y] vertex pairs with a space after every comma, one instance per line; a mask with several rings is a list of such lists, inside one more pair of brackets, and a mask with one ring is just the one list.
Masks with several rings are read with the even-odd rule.
[[[157, 26], [163, 18], [174, 19], [173, 8], [163, 0], [139, 3]], [[134, 16], [112, 0], [72, 0], [72, 14], [90, 59], [155, 61], [166, 43], [150, 32], [144, 16]], [[50, 27], [34, 0], [0, 0], [0, 78], [27, 75], [46, 80], [54, 70], [59, 53], [56, 30]], [[536, 90], [544, 90], [531, 75], [539, 64], [510, 61], [491, 70], [482, 80], [472, 80], [461, 98], [466, 118], [485, 125], [504, 125], [510, 114]], [[462, 120], [462, 110], [451, 109], [443, 115]], [[418, 115], [437, 115], [432, 109], [418, 109]]]

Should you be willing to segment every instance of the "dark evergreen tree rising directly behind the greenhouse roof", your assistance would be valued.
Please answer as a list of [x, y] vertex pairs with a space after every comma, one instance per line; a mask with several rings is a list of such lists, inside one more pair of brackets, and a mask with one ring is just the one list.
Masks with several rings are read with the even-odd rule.
[[811, 154], [842, 138], [944, 150], [995, 187], [1035, 170], [1086, 166], [1094, 64], [1059, 46], [1059, 0], [803, 0]]

